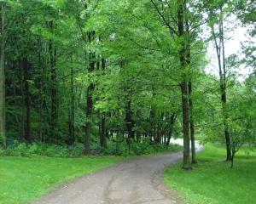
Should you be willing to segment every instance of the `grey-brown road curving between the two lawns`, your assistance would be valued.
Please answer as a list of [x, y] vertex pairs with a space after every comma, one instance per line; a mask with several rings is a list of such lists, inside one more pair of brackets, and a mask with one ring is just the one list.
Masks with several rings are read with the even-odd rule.
[[182, 153], [144, 156], [79, 178], [33, 204], [173, 204], [174, 192], [161, 182], [161, 173]]

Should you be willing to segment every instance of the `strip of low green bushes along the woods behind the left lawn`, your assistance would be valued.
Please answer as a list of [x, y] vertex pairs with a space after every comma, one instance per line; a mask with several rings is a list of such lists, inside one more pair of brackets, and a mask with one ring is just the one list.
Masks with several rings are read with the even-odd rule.
[[[100, 149], [98, 145], [94, 144], [91, 151], [102, 155], [116, 155], [116, 156], [141, 156], [155, 154], [164, 151], [180, 150], [177, 144], [154, 144], [149, 139], [144, 139], [143, 142], [130, 141], [129, 145], [126, 141], [119, 143], [118, 150], [114, 140], [108, 141], [107, 149]], [[78, 157], [84, 154], [84, 144], [75, 143], [72, 146], [55, 145], [45, 143], [20, 143], [14, 141], [6, 150], [0, 148], [0, 156], [54, 156], [54, 157]]]

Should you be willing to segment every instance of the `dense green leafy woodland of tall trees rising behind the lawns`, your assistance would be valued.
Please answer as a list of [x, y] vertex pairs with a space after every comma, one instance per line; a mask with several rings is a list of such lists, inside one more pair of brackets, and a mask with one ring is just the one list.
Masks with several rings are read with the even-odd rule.
[[[195, 139], [225, 144], [228, 161], [255, 144], [253, 0], [0, 4], [3, 150], [19, 141], [116, 153], [182, 137], [190, 169]], [[241, 26], [247, 41], [229, 56], [228, 34]], [[218, 75], [207, 71], [210, 44]]]

